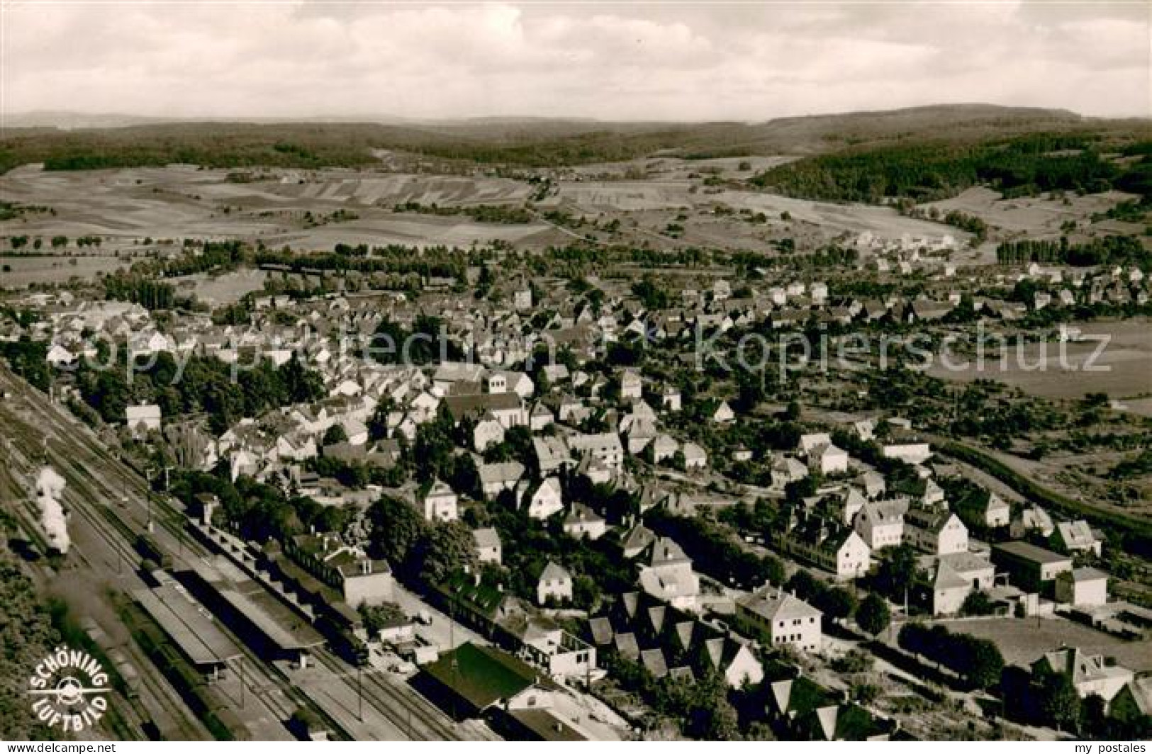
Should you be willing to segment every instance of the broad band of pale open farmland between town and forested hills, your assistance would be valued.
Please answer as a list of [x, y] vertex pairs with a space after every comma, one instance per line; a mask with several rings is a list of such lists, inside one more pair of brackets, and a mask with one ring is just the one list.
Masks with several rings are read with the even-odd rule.
[[[740, 170], [741, 160], [735, 159], [658, 158], [646, 161], [657, 168], [643, 168], [649, 175], [644, 180], [561, 180], [555, 193], [538, 206], [545, 212], [561, 210], [601, 221], [617, 219], [622, 230], [611, 241], [619, 243], [664, 242], [770, 253], [772, 242], [783, 237], [793, 237], [797, 247], [808, 249], [865, 231], [889, 239], [945, 235], [961, 244], [968, 239], [967, 234], [954, 228], [904, 218], [889, 207], [838, 205], [720, 188], [700, 190], [702, 169], [740, 178], [788, 159], [751, 158], [752, 170]], [[271, 247], [303, 250], [328, 250], [338, 243], [427, 247], [502, 241], [539, 250], [585, 233], [583, 228], [560, 230], [544, 220], [499, 224], [477, 222], [464, 214], [393, 211], [406, 203], [520, 207], [531, 198], [531, 190], [529, 183], [511, 178], [366, 169], [262, 168], [229, 173], [172, 165], [59, 173], [25, 166], [0, 176], [0, 191], [12, 201], [51, 207], [54, 214], [29, 214], [0, 223], [0, 235], [98, 235], [105, 239], [106, 251], [137, 251], [146, 238], [258, 239]], [[764, 213], [767, 220], [749, 222], [746, 216], [717, 215], [717, 207]], [[783, 213], [790, 219], [782, 220]], [[670, 237], [669, 223], [682, 224], [684, 231]]]

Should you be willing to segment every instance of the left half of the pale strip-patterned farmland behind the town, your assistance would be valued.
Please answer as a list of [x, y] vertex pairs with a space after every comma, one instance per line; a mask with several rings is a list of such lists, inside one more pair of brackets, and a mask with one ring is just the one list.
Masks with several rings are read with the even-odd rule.
[[[394, 213], [396, 204], [521, 205], [529, 185], [507, 178], [371, 174], [355, 170], [227, 170], [192, 166], [52, 173], [26, 166], [0, 177], [6, 200], [52, 207], [0, 223], [0, 235], [99, 235], [107, 249], [144, 238], [260, 238], [270, 245], [331, 249], [336, 243], [419, 246], [497, 239], [556, 239], [543, 222], [494, 224], [467, 215]], [[335, 216], [343, 211], [348, 216]]]

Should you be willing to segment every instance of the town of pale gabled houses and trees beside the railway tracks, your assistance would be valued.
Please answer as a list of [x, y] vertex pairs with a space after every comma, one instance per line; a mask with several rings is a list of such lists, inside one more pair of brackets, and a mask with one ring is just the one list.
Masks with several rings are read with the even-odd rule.
[[[131, 530], [113, 558], [141, 584], [109, 610], [181, 694], [237, 675], [244, 645], [298, 687], [279, 714], [311, 736], [364, 726], [363, 688], [355, 725], [316, 691], [343, 665], [465, 736], [1147, 730], [1147, 518], [1002, 460], [1067, 422], [1136, 448], [1146, 420], [1091, 390], [947, 382], [907, 350], [915, 332], [972, 352], [977, 323], [1084, 345], [1061, 314], [1146, 315], [1139, 264], [1024, 264], [1016, 242], [965, 267], [946, 226], [842, 237], [847, 269], [166, 243], [94, 289], [6, 300], [2, 411], [14, 494], [41, 464], [66, 501], [107, 474], [78, 436], [135, 477], [143, 526], [112, 483], [66, 505]], [[190, 269], [263, 285], [177, 303]], [[783, 333], [894, 336], [893, 363], [797, 358]], [[78, 568], [62, 538], [54, 568]]]

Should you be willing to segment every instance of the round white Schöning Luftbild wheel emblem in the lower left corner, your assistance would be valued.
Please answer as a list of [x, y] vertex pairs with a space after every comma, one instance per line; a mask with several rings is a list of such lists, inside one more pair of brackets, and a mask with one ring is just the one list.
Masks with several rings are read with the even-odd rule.
[[109, 692], [108, 673], [99, 661], [71, 647], [56, 647], [28, 679], [36, 718], [69, 732], [96, 725], [108, 709]]

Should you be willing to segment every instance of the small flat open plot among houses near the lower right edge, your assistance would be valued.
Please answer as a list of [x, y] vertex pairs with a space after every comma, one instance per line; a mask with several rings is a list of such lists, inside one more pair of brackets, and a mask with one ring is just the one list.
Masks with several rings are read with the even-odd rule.
[[995, 641], [1005, 660], [1016, 665], [1028, 665], [1045, 652], [1068, 645], [1089, 654], [1115, 657], [1138, 672], [1152, 671], [1152, 642], [1124, 641], [1063, 618], [982, 618], [947, 620], [945, 625], [952, 631]]

